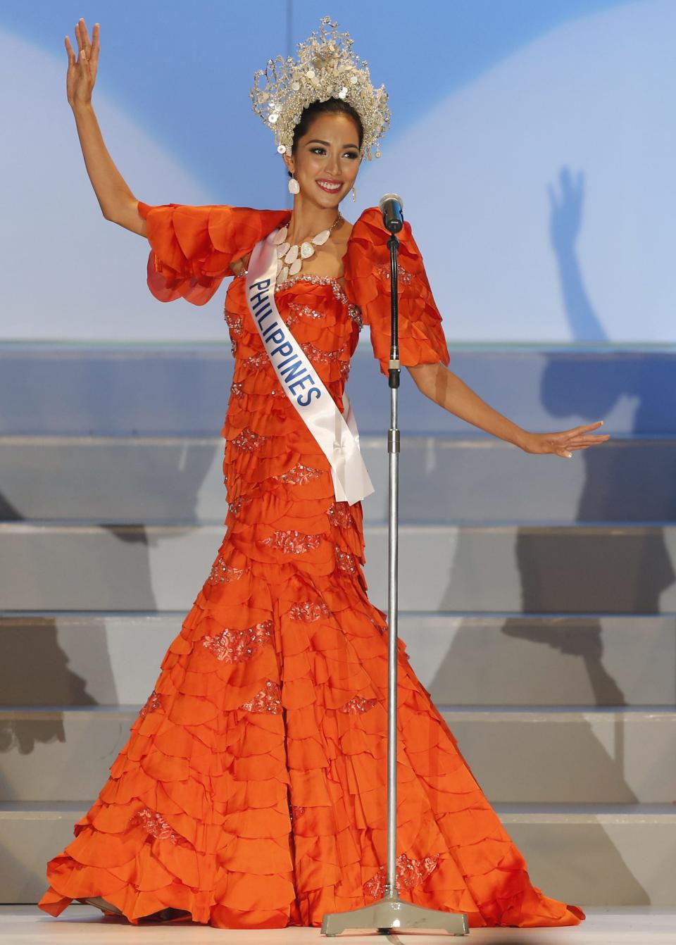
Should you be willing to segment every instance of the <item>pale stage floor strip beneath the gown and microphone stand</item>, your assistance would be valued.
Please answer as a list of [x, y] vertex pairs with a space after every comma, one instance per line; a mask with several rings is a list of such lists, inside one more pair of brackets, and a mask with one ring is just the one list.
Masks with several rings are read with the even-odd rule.
[[[589, 907], [581, 925], [563, 929], [473, 929], [468, 940], [476, 945], [673, 945], [676, 909]], [[442, 945], [450, 936], [390, 935], [341, 936], [352, 945], [382, 941], [390, 945]], [[0, 942], [21, 945], [63, 942], [64, 945], [310, 945], [327, 941], [319, 929], [289, 928], [271, 931], [231, 931], [185, 923], [143, 925], [134, 928], [117, 919], [102, 919], [92, 906], [73, 905], [60, 919], [51, 919], [34, 905], [0, 906]], [[338, 938], [336, 939], [338, 941]]]

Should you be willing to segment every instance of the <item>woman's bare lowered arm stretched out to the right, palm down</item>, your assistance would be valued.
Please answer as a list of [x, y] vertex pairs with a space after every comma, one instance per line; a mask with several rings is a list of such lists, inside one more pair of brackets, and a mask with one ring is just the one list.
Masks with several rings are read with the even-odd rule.
[[590, 431], [598, 430], [603, 421], [576, 426], [561, 433], [528, 433], [482, 401], [471, 387], [441, 363], [421, 364], [408, 370], [418, 389], [430, 401], [479, 430], [506, 439], [526, 453], [551, 453], [570, 458], [573, 450], [586, 450], [609, 439], [606, 435], [590, 435]]

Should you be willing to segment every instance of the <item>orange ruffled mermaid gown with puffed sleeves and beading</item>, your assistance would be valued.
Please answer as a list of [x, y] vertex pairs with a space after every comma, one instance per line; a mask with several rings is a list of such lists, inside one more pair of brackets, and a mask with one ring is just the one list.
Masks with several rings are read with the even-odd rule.
[[[286, 211], [139, 204], [156, 298], [208, 301]], [[401, 234], [404, 365], [448, 363], [419, 250]], [[350, 237], [345, 286], [303, 276], [276, 301], [338, 406], [367, 322], [390, 353], [379, 212]], [[388, 637], [367, 597], [359, 504], [288, 402], [252, 323], [226, 298], [234, 381], [223, 428], [227, 532], [130, 739], [41, 907], [102, 897], [132, 922], [167, 907], [221, 928], [320, 925], [381, 895], [386, 862]], [[575, 925], [546, 897], [484, 797], [400, 641], [398, 857], [403, 898], [470, 926]]]

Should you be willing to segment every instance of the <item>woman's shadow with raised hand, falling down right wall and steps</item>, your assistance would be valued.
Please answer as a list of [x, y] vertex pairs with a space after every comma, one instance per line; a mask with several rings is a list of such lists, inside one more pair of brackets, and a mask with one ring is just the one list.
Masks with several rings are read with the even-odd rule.
[[[576, 252], [576, 241], [581, 230], [584, 177], [576, 180], [567, 167], [560, 173], [560, 193], [548, 188], [550, 202], [549, 235], [556, 255], [563, 306], [571, 333], [576, 341], [607, 342], [603, 326], [586, 292], [581, 266]], [[598, 363], [597, 363], [598, 364]], [[583, 368], [583, 362], [582, 362]], [[588, 375], [588, 371], [586, 372]], [[596, 380], [597, 383], [593, 383]], [[643, 421], [652, 431], [650, 422], [650, 394], [661, 398], [661, 385], [647, 385], [640, 374], [625, 374], [616, 369], [601, 371], [596, 379], [585, 378], [577, 384], [571, 376], [566, 359], [551, 359], [542, 382], [542, 401], [552, 415], [565, 417], [578, 414], [594, 422], [613, 409], [621, 396], [639, 398], [635, 412], [634, 432], [643, 432]], [[591, 383], [590, 383], [591, 382]], [[671, 389], [668, 385], [664, 389]], [[646, 393], [649, 394], [646, 398]], [[582, 395], [582, 396], [581, 396]], [[585, 402], [585, 399], [589, 398]], [[663, 404], [660, 404], [663, 408]], [[647, 415], [647, 416], [646, 416]], [[635, 460], [640, 467], [637, 451]], [[622, 453], [603, 447], [592, 448], [581, 454], [584, 463], [584, 486], [577, 511], [579, 522], [608, 522], [632, 520], [631, 489], [628, 488], [631, 470], [622, 464]], [[634, 472], [639, 472], [636, 469]], [[644, 473], [643, 468], [640, 472]], [[654, 485], [657, 503], [666, 501], [673, 507], [676, 470], [658, 471], [660, 480]], [[670, 474], [669, 474], [670, 473]], [[645, 514], [645, 511], [644, 511]], [[618, 555], [622, 549], [621, 557]], [[599, 610], [598, 601], [610, 602], [613, 612], [657, 613], [660, 595], [674, 581], [671, 560], [664, 535], [659, 528], [638, 529], [633, 541], [618, 542], [612, 533], [588, 532], [568, 536], [558, 541], [556, 533], [550, 536], [530, 529], [519, 529], [516, 540], [516, 558], [521, 578], [522, 608], [524, 612], [587, 612]], [[589, 621], [583, 633], [570, 633], [567, 627], [549, 628], [544, 634], [518, 619], [507, 620], [503, 632], [508, 636], [530, 640], [532, 643], [559, 648], [562, 654], [577, 655], [584, 662], [597, 705], [624, 706], [627, 700], [615, 679], [603, 665], [603, 643], [600, 620]], [[613, 780], [626, 797], [626, 802], [637, 799], [624, 777], [625, 740], [621, 719], [615, 734], [615, 752], [609, 752], [593, 731], [586, 736], [592, 741], [598, 755], [598, 765], [613, 767]], [[574, 760], [571, 759], [574, 763]], [[597, 763], [594, 767], [596, 768]], [[599, 834], [599, 843], [613, 847], [612, 841]], [[625, 885], [629, 884], [626, 902], [650, 902], [646, 890], [629, 874], [618, 851], [613, 855], [613, 869], [621, 869]]]

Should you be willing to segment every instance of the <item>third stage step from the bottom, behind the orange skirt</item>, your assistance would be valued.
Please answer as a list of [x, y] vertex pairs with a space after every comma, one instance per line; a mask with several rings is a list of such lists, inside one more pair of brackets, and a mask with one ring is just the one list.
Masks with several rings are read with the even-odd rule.
[[[140, 705], [184, 615], [0, 616], [0, 705]], [[676, 702], [673, 615], [404, 612], [399, 634], [437, 703], [574, 708]]]

